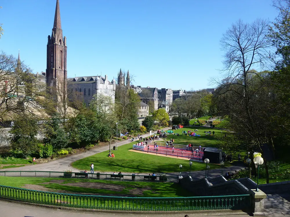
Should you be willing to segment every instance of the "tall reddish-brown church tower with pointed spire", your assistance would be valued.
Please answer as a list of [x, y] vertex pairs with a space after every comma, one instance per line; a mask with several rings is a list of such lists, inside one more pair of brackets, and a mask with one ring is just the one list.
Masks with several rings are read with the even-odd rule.
[[59, 0], [56, 1], [55, 18], [51, 36], [48, 36], [46, 53], [46, 84], [58, 97], [66, 98], [66, 37], [62, 36]]

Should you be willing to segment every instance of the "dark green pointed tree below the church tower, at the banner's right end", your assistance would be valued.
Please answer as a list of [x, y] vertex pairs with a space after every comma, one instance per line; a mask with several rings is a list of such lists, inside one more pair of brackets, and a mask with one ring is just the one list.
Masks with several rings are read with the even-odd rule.
[[45, 125], [45, 144], [51, 144], [53, 148], [64, 148], [68, 144], [68, 137], [60, 126], [61, 120], [59, 113], [54, 113]]

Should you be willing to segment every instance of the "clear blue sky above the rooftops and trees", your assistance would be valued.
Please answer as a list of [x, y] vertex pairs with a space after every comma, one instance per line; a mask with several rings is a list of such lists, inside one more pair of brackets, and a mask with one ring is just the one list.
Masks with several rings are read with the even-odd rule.
[[[56, 0], [2, 0], [0, 50], [18, 55], [36, 73], [46, 69], [47, 36]], [[59, 0], [67, 37], [68, 77], [129, 70], [133, 84], [210, 88], [222, 69], [220, 38], [238, 19], [273, 21], [271, 0]]]

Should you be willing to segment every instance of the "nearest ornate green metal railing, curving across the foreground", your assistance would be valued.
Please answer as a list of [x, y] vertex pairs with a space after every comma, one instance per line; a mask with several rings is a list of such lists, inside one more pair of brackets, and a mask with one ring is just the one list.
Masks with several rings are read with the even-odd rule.
[[64, 207], [129, 211], [245, 209], [251, 206], [251, 196], [248, 194], [168, 198], [116, 197], [61, 194], [1, 185], [0, 198]]

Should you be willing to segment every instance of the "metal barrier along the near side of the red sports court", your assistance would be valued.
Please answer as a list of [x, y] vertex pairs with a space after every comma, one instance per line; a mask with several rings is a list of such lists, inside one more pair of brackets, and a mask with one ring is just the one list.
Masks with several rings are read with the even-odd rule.
[[[138, 148], [140, 147], [140, 148]], [[175, 148], [175, 146], [174, 146]], [[137, 146], [137, 145], [133, 145], [133, 150], [139, 150], [139, 151], [143, 151], [143, 152], [151, 152], [151, 153], [155, 153], [155, 154], [162, 154], [162, 155], [171, 155], [171, 156], [176, 156], [176, 157], [186, 157], [188, 159], [195, 159], [195, 160], [202, 160], [203, 157], [203, 152], [200, 153], [196, 153], [196, 152], [183, 152], [183, 151], [178, 151], [178, 150], [172, 150], [172, 147], [160, 147], [159, 148], [150, 148], [149, 146], [145, 147], [145, 146]]]

